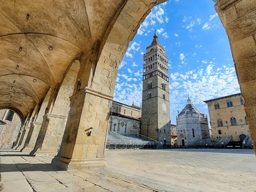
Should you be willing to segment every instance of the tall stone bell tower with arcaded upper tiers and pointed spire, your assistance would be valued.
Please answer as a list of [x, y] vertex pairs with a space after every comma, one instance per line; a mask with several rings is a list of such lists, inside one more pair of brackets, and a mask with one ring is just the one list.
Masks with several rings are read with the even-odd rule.
[[168, 57], [156, 32], [143, 60], [141, 134], [170, 144]]

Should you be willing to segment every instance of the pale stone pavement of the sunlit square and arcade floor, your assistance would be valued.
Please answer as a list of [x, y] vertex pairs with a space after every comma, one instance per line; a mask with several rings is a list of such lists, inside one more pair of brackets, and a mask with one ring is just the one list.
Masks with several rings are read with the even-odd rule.
[[256, 191], [253, 150], [107, 150], [106, 170], [72, 172], [51, 166], [52, 157], [0, 157], [4, 192]]

